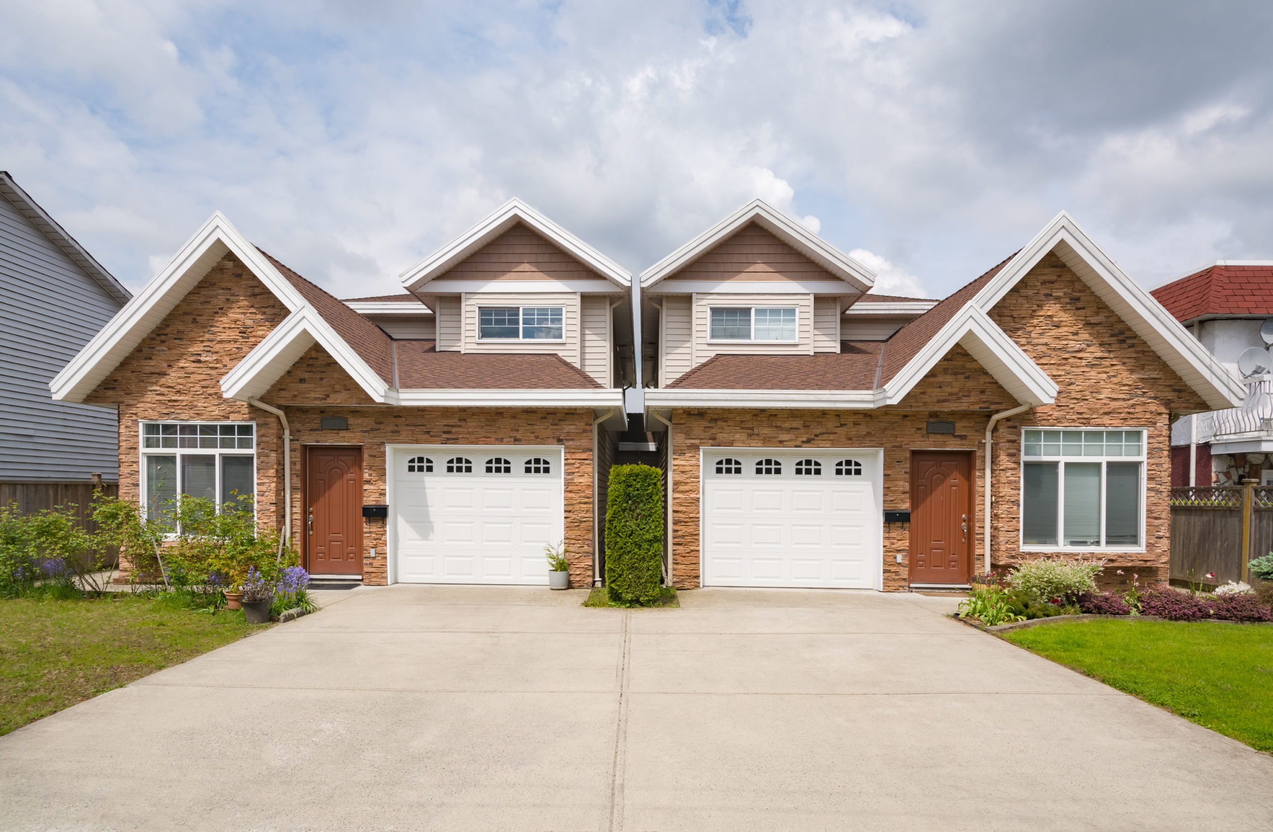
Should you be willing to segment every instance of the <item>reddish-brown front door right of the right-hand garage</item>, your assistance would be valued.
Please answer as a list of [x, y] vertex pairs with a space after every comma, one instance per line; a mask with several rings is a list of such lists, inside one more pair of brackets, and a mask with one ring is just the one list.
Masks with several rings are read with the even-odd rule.
[[973, 454], [910, 454], [910, 583], [966, 584], [973, 574]]

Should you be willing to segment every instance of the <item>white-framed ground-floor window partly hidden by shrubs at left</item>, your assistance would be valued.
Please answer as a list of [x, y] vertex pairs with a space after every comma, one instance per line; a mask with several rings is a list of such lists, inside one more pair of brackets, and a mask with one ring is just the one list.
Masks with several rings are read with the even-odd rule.
[[171, 515], [177, 495], [244, 510], [256, 495], [256, 424], [141, 422], [141, 494], [148, 517]]

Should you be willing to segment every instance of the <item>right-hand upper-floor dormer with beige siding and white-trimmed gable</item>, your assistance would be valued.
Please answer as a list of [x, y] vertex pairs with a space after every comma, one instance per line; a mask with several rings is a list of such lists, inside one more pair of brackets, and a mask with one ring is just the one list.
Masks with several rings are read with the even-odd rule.
[[875, 275], [755, 200], [640, 277], [643, 379], [666, 387], [714, 355], [839, 352]]

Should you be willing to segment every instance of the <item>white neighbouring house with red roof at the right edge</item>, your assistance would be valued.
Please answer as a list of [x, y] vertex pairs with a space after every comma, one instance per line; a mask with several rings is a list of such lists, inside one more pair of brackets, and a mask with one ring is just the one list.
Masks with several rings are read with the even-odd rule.
[[[1217, 260], [1151, 294], [1235, 373], [1240, 356], [1267, 350], [1260, 333], [1273, 321], [1273, 261]], [[1265, 328], [1273, 333], [1273, 323]], [[1265, 366], [1273, 361], [1265, 359]], [[1236, 485], [1244, 478], [1273, 483], [1273, 380], [1246, 378], [1241, 407], [1183, 416], [1172, 426], [1171, 483]]]

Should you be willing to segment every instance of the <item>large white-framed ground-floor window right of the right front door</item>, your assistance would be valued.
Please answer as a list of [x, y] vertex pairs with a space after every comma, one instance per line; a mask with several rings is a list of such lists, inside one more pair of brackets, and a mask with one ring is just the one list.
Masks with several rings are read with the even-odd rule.
[[1144, 546], [1144, 431], [1025, 429], [1021, 547], [1034, 551]]

